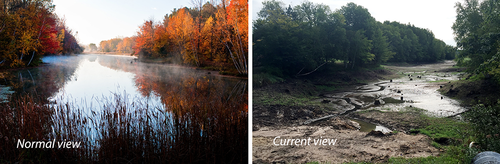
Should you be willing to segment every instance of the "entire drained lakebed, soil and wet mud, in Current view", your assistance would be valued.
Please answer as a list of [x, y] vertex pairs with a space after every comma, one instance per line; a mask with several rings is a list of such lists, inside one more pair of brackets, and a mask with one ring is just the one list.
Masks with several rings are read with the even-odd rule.
[[[443, 160], [448, 163], [466, 161], [467, 155], [451, 150], [467, 143], [467, 124], [440, 117], [462, 108], [437, 91], [440, 85], [466, 76], [461, 70], [451, 61], [392, 64], [254, 85], [253, 163], [388, 162], [398, 157], [439, 161], [441, 156], [446, 156]], [[375, 104], [377, 99], [381, 104]], [[321, 117], [324, 119], [313, 120]], [[394, 132], [358, 131], [348, 118], [383, 125]], [[451, 129], [462, 132], [445, 130], [457, 124], [463, 126]], [[273, 145], [276, 136], [335, 138], [337, 142], [335, 146], [277, 146]], [[448, 158], [450, 155], [455, 156]]]

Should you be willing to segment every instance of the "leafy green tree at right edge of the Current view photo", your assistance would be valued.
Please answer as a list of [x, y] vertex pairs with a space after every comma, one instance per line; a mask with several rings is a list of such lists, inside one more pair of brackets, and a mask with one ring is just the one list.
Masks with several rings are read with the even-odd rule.
[[[469, 72], [481, 72], [486, 77], [496, 60], [500, 47], [500, 1], [465, 0], [457, 2], [453, 34], [460, 50], [456, 60]], [[491, 67], [494, 68], [494, 67]]]

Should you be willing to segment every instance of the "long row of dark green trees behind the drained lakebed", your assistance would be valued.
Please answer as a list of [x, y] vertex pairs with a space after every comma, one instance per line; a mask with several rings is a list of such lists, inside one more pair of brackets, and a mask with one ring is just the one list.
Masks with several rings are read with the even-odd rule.
[[309, 1], [291, 6], [266, 0], [257, 14], [253, 64], [278, 76], [303, 75], [335, 61], [345, 68], [387, 61], [433, 62], [453, 59], [456, 51], [429, 29], [376, 21], [367, 8], [353, 2], [331, 10]]

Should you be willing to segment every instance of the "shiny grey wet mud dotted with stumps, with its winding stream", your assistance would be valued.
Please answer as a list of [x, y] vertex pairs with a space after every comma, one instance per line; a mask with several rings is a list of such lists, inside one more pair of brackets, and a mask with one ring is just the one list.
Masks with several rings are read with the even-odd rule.
[[[446, 82], [430, 82], [437, 80], [458, 80], [463, 74], [461, 72], [438, 72], [440, 68], [452, 66], [452, 62], [446, 61], [439, 64], [426, 64], [414, 67], [391, 66], [392, 69], [401, 70], [399, 78], [383, 80], [357, 86], [353, 90], [326, 92], [320, 94], [326, 99], [341, 99], [346, 106], [339, 114], [326, 115], [320, 118], [313, 118], [304, 121], [304, 124], [320, 121], [336, 115], [347, 114], [356, 110], [379, 109], [397, 111], [406, 106], [418, 107], [428, 111], [435, 116], [449, 116], [464, 110], [454, 99], [450, 99], [440, 94], [437, 89]], [[409, 72], [407, 70], [422, 70]], [[398, 91], [400, 91], [398, 93]], [[403, 99], [402, 103], [385, 103], [375, 105], [375, 99]], [[334, 101], [333, 101], [334, 102]], [[393, 102], [393, 101], [390, 101]], [[399, 101], [400, 102], [400, 101]], [[347, 103], [347, 105], [345, 105]], [[371, 127], [370, 127], [371, 128]]]

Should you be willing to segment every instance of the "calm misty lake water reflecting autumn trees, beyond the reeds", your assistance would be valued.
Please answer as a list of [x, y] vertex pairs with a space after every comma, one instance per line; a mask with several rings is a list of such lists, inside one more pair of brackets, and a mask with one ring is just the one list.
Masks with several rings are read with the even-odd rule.
[[[37, 94], [51, 102], [71, 101], [73, 105], [98, 109], [102, 99], [114, 93], [129, 100], [145, 99], [162, 105], [171, 92], [200, 83], [220, 97], [247, 94], [247, 80], [213, 76], [168, 64], [142, 63], [131, 56], [82, 54], [46, 56], [49, 64], [37, 68], [0, 72], [0, 97]], [[215, 74], [212, 72], [212, 74]], [[1, 79], [3, 78], [3, 79]], [[184, 93], [189, 94], [189, 93]]]

